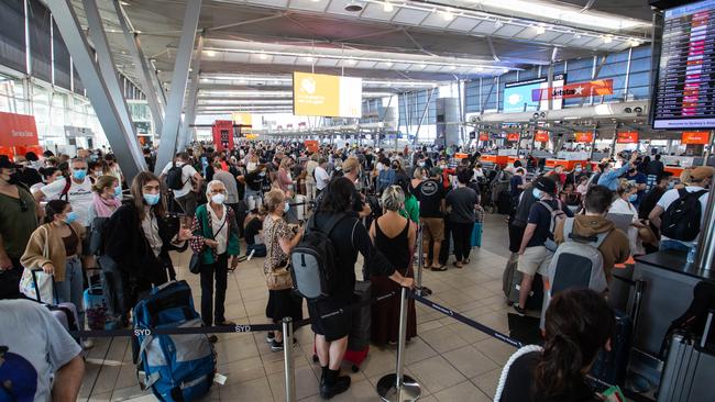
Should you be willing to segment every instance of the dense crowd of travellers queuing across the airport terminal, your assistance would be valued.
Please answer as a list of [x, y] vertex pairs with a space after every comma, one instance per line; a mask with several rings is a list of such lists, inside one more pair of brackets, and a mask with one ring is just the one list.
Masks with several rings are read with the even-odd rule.
[[[154, 166], [153, 155], [145, 149], [147, 166]], [[671, 228], [661, 233], [661, 227], [672, 221], [667, 216], [671, 204], [689, 194], [705, 211], [713, 169], [690, 169], [675, 180], [659, 156], [646, 160], [634, 153], [618, 158], [579, 164], [570, 171], [563, 166], [538, 171], [529, 160], [504, 170], [510, 175], [509, 248], [522, 273], [514, 304], [518, 314], [526, 314], [536, 275], [546, 277], [554, 250], [566, 237], [565, 217], [574, 217], [573, 233], [606, 234], [598, 250], [608, 280], [613, 267], [629, 256], [695, 247], [692, 238], [679, 238]], [[307, 305], [322, 368], [320, 394], [332, 398], [350, 387], [340, 365], [352, 317], [321, 316], [353, 303], [358, 255], [364, 260], [360, 279], [371, 281], [375, 294], [414, 287], [416, 252], [424, 253], [426, 269], [463, 269], [470, 264], [475, 223], [491, 202], [483, 194], [486, 170], [476, 152], [460, 160], [447, 149], [426, 146], [411, 152], [356, 144], [309, 149], [295, 142], [245, 142], [224, 150], [196, 144], [177, 153], [158, 176], [141, 171], [129, 181], [117, 158], [99, 149], [78, 149], [72, 158], [51, 152], [0, 157], [0, 291], [2, 299], [13, 299], [3, 301], [8, 309], [0, 310], [2, 322], [13, 324], [3, 325], [0, 333], [4, 339], [10, 328], [45, 328], [50, 365], [42, 366], [40, 375], [48, 378], [48, 370], [58, 370], [55, 382], [68, 380], [53, 394], [70, 392], [66, 387], [78, 384], [77, 378], [81, 381], [81, 348], [72, 337], [57, 335], [62, 328], [40, 304], [20, 300], [28, 272], [52, 278], [54, 302], [74, 304], [80, 328], [88, 325], [82, 291], [92, 281], [89, 273], [99, 272], [107, 301], [103, 328], [123, 328], [138, 300], [177, 278], [169, 252], [189, 247], [189, 268], [200, 276], [206, 326], [234, 325], [224, 309], [228, 275], [248, 256], [265, 257], [267, 320], [301, 320], [306, 301], [292, 291], [289, 256], [306, 228], [319, 230], [334, 245], [339, 269], [331, 294]], [[613, 213], [630, 215], [630, 224], [617, 228], [608, 217]], [[422, 244], [417, 244], [420, 230]], [[34, 295], [40, 293], [35, 289]], [[514, 389], [509, 376], [501, 383], [502, 400], [588, 393], [583, 368], [593, 362], [613, 326], [613, 314], [604, 305], [603, 294], [587, 291], [554, 298], [546, 313], [543, 349], [522, 351], [505, 370], [505, 376], [517, 370], [517, 378], [528, 378], [536, 393], [525, 397], [529, 391]], [[396, 343], [398, 314], [398, 298], [374, 304], [371, 342]], [[266, 334], [272, 350], [286, 347], [283, 335]], [[407, 337], [416, 335], [410, 301]], [[15, 345], [29, 342], [13, 336]], [[574, 345], [580, 350], [573, 350]], [[91, 339], [82, 339], [81, 346], [91, 347]]]

